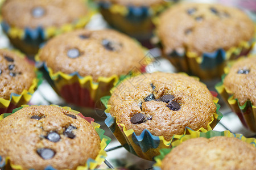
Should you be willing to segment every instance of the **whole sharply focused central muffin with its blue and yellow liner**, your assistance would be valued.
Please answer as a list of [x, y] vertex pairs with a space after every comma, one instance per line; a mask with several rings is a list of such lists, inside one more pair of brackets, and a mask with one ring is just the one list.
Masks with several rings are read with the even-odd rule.
[[174, 135], [187, 133], [188, 128], [212, 130], [222, 116], [214, 102], [207, 87], [195, 78], [143, 74], [113, 89], [105, 123], [127, 150], [152, 160], [160, 148], [170, 147]]

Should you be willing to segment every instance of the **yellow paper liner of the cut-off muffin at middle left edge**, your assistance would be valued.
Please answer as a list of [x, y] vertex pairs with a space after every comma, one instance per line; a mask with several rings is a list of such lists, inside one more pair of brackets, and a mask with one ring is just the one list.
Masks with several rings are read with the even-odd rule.
[[[18, 51], [13, 50], [15, 53], [18, 53], [19, 56], [24, 57], [23, 54], [20, 54]], [[26, 58], [25, 58], [26, 59]], [[0, 97], [0, 114], [2, 113], [11, 113], [13, 109], [20, 107], [23, 104], [27, 104], [30, 101], [32, 95], [34, 94], [36, 88], [43, 81], [43, 74], [40, 73], [37, 69], [35, 70], [36, 78], [32, 80], [32, 84], [28, 90], [23, 90], [21, 94], [12, 93], [10, 99], [3, 99]]]

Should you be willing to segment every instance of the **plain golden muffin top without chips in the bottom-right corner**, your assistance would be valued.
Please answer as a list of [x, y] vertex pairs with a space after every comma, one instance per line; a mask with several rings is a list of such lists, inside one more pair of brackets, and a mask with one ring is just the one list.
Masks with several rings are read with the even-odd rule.
[[256, 148], [233, 137], [193, 138], [172, 149], [161, 169], [255, 169]]

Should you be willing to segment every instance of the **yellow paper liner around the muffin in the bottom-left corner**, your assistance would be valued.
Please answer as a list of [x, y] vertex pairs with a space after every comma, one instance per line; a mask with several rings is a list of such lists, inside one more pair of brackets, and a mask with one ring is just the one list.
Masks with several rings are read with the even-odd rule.
[[[54, 105], [54, 106], [59, 107], [58, 105]], [[22, 108], [25, 108], [25, 107], [29, 107], [29, 105], [22, 105], [22, 107], [14, 109], [12, 113], [1, 114], [0, 121], [3, 120], [3, 118], [9, 116], [10, 114], [13, 114], [16, 111], [19, 111], [19, 109], [22, 109]], [[100, 124], [97, 124], [96, 122], [94, 122], [93, 118], [84, 117], [80, 112], [74, 111], [69, 107], [61, 107], [61, 108], [65, 109], [67, 111], [74, 112], [77, 115], [84, 118], [86, 121], [88, 121], [93, 126], [93, 128], [96, 130], [96, 132], [100, 136], [100, 139], [101, 139], [100, 147], [101, 147], [101, 149], [100, 149], [98, 155], [96, 156], [96, 158], [95, 159], [90, 159], [89, 158], [84, 166], [79, 166], [79, 167], [76, 168], [76, 170], [97, 168], [106, 159], [107, 154], [106, 154], [106, 151], [104, 151], [104, 150], [105, 150], [106, 146], [109, 145], [109, 142], [111, 141], [111, 139], [109, 137], [107, 137], [106, 135], [104, 135], [105, 130], [100, 129]], [[10, 162], [10, 158], [3, 159], [1, 157], [1, 154], [0, 154], [0, 168], [5, 168], [5, 166], [10, 166], [12, 169], [16, 169], [16, 170], [22, 170], [23, 169], [20, 165], [12, 164]], [[56, 170], [55, 168], [51, 167], [51, 165], [48, 165], [44, 169], [45, 170]]]

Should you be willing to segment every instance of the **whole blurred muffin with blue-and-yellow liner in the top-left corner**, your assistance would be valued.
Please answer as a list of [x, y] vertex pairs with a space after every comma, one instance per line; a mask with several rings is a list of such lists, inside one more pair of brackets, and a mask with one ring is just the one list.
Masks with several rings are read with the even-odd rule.
[[92, 16], [86, 0], [6, 0], [1, 8], [2, 28], [11, 43], [34, 55], [50, 37], [82, 28]]

